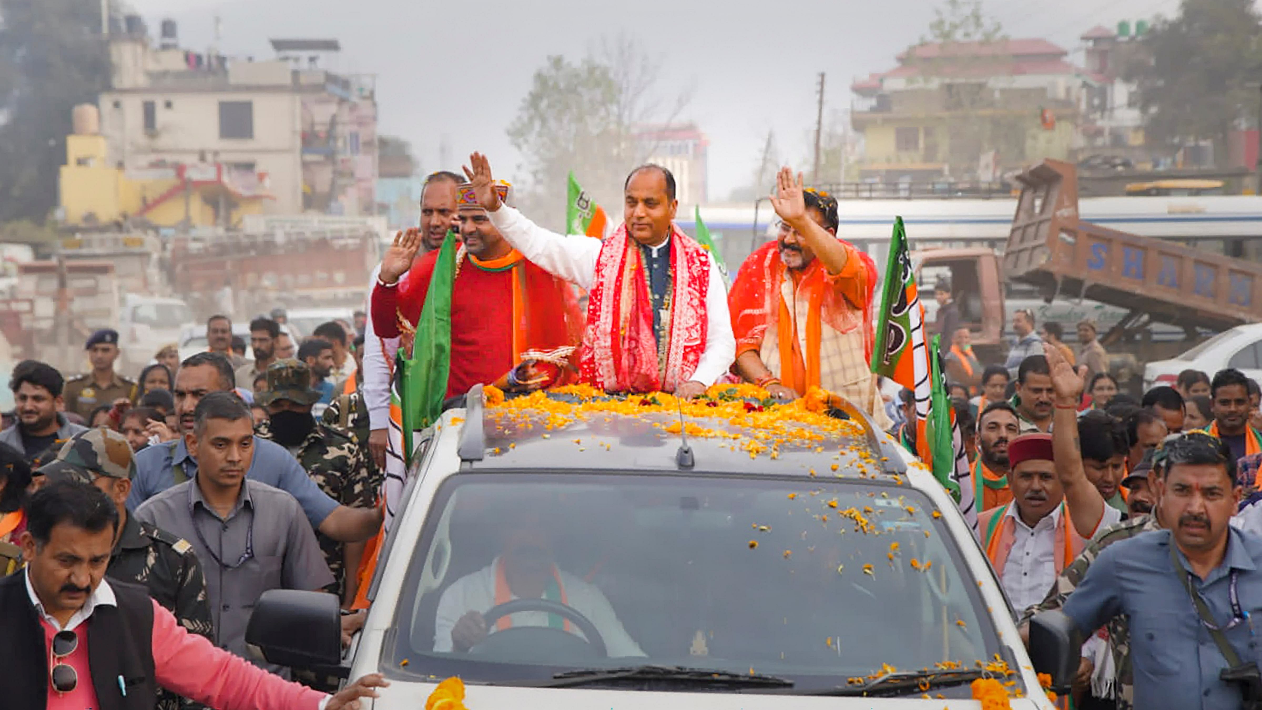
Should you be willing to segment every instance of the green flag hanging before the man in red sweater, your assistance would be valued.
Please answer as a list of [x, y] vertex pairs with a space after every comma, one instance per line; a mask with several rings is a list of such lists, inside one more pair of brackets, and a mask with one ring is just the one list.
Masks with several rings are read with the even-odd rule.
[[404, 460], [411, 459], [411, 436], [443, 413], [452, 365], [452, 288], [456, 284], [456, 235], [447, 232], [416, 320], [411, 356], [399, 351], [399, 404], [403, 418]]

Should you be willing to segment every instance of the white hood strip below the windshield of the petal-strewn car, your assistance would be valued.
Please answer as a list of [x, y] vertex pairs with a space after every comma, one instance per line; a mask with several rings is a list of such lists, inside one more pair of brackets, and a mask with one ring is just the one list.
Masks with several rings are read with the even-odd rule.
[[[424, 707], [437, 683], [391, 681], [382, 689], [372, 710]], [[646, 692], [627, 690], [539, 689], [512, 686], [466, 686], [464, 706], [473, 710], [784, 710], [785, 707], [838, 710], [977, 710], [976, 700], [924, 700], [921, 697], [813, 697], [736, 692]], [[1030, 699], [1012, 699], [1013, 710], [1051, 707]]]

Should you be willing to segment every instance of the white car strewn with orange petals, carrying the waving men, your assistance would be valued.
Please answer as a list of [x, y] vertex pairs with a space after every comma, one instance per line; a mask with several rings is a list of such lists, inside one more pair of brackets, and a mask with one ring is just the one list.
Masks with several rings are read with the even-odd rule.
[[[996, 658], [1012, 707], [1053, 707], [950, 496], [857, 409], [772, 455], [738, 408], [690, 417], [685, 445], [668, 408], [467, 402], [416, 432], [345, 657], [390, 680], [374, 710], [423, 707], [451, 676], [477, 710], [977, 707]], [[528, 581], [541, 595], [515, 594]], [[268, 591], [247, 643], [336, 665], [337, 606]], [[472, 611], [488, 633], [457, 633]], [[1055, 648], [1071, 677], [1078, 647]]]

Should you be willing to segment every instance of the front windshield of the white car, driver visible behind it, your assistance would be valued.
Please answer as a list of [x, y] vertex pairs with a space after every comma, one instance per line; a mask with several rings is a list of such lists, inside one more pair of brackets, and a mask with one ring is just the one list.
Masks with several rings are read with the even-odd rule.
[[974, 668], [1001, 649], [938, 518], [892, 481], [459, 474], [427, 514], [382, 671], [511, 685], [687, 666], [809, 691]]

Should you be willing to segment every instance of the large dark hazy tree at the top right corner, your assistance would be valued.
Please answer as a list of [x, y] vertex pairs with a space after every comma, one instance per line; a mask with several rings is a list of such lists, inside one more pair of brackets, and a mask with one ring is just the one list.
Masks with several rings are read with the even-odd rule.
[[1123, 68], [1136, 83], [1150, 143], [1212, 139], [1223, 150], [1237, 124], [1253, 124], [1259, 38], [1252, 0], [1184, 0], [1176, 18], [1159, 18]]

